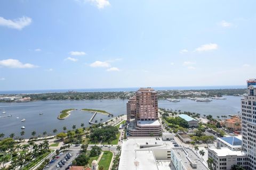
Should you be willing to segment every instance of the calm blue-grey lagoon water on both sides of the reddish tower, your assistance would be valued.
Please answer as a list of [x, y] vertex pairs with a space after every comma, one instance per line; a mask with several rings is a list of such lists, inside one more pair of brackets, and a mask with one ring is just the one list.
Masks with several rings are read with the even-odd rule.
[[[189, 99], [181, 99], [180, 102], [173, 103], [167, 100], [159, 100], [158, 106], [161, 108], [177, 109], [181, 111], [189, 111], [203, 114], [211, 114], [215, 116], [237, 114], [241, 110], [241, 97], [225, 96], [226, 100], [213, 100], [211, 102], [196, 102]], [[89, 126], [92, 113], [82, 112], [82, 108], [94, 108], [105, 110], [114, 116], [126, 114], [127, 100], [47, 100], [47, 101], [33, 101], [29, 103], [0, 103], [0, 109], [7, 112], [6, 114], [12, 117], [0, 118], [0, 133], [9, 135], [15, 133], [19, 135], [21, 126], [25, 126], [24, 137], [29, 138], [32, 131], [36, 131], [37, 135], [46, 131], [48, 134], [52, 133], [53, 129], [58, 132], [62, 131], [63, 126], [68, 130], [75, 124], [77, 127], [84, 123]], [[71, 115], [65, 120], [58, 120], [59, 112], [67, 108], [77, 108], [78, 111], [71, 112]], [[42, 112], [43, 115], [39, 115]], [[19, 117], [19, 119], [16, 119]], [[21, 122], [22, 118], [26, 118], [25, 122]], [[100, 122], [108, 120], [111, 117], [103, 114], [97, 114], [94, 120]]]

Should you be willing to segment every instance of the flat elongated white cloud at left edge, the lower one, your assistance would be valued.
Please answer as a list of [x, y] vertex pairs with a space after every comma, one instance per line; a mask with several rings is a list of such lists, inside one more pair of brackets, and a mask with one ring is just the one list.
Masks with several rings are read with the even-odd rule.
[[23, 64], [21, 63], [19, 60], [15, 60], [15, 59], [7, 59], [7, 60], [1, 60], [0, 61], [0, 67], [8, 67], [8, 68], [18, 68], [18, 69], [31, 69], [31, 68], [35, 68], [38, 67], [37, 65], [33, 65], [33, 64]]

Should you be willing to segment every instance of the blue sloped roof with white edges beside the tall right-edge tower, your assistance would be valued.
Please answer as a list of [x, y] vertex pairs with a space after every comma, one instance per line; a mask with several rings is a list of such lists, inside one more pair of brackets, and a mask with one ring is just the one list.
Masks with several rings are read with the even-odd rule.
[[217, 148], [223, 147], [231, 150], [242, 150], [242, 136], [217, 138]]

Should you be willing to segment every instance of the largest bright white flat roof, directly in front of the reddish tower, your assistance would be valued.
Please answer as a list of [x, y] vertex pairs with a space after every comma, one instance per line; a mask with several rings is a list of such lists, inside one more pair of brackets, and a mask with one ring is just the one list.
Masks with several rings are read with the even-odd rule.
[[[146, 144], [148, 143], [148, 144]], [[156, 144], [157, 143], [157, 144]], [[140, 148], [141, 146], [147, 148]], [[161, 138], [140, 138], [132, 137], [123, 141], [122, 152], [119, 162], [119, 170], [137, 169], [137, 170], [174, 170], [169, 167], [170, 161], [164, 161], [161, 163], [161, 160], [156, 160], [155, 155], [152, 149], [166, 149], [173, 147], [171, 141], [163, 141]], [[169, 167], [169, 168], [168, 168]]]

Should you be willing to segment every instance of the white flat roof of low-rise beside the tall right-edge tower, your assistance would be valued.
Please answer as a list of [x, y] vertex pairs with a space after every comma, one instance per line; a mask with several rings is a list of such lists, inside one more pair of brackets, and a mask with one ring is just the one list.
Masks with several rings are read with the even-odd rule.
[[213, 151], [218, 156], [245, 156], [246, 153], [242, 150], [231, 150], [229, 148], [208, 148], [209, 150]]

